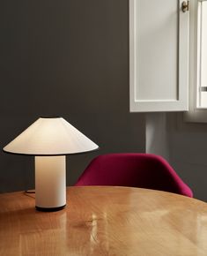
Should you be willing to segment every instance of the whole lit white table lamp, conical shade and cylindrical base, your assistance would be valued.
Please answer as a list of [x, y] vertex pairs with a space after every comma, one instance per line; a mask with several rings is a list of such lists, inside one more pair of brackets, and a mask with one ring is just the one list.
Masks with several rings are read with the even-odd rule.
[[40, 117], [3, 150], [34, 155], [36, 209], [57, 211], [66, 205], [65, 155], [96, 149], [91, 139], [63, 117]]

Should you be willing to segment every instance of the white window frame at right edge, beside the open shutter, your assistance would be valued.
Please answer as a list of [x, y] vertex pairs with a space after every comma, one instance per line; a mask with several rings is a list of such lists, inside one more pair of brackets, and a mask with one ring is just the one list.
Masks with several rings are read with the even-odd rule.
[[184, 120], [193, 123], [207, 123], [207, 109], [197, 107], [197, 11], [199, 0], [191, 0], [189, 6], [189, 111]]

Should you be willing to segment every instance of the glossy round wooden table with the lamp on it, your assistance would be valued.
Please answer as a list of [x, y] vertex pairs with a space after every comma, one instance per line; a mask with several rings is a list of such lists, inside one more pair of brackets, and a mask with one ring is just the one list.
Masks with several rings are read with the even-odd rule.
[[207, 204], [168, 192], [70, 187], [43, 213], [33, 196], [0, 195], [0, 255], [207, 255]]

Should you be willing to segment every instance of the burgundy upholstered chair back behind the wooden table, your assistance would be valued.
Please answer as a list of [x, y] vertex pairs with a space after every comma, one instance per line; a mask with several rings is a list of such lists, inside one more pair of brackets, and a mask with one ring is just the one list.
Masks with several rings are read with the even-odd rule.
[[164, 158], [155, 154], [103, 154], [97, 156], [75, 185], [120, 185], [174, 192], [193, 197]]

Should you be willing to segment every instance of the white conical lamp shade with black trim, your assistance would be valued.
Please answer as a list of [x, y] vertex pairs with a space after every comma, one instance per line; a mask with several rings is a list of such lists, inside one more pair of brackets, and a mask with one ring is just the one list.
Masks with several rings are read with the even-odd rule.
[[4, 147], [14, 154], [57, 155], [92, 151], [98, 146], [63, 117], [39, 118]]

